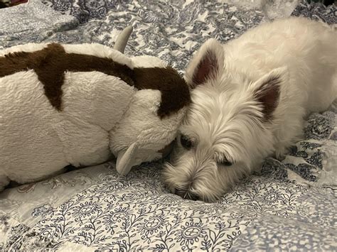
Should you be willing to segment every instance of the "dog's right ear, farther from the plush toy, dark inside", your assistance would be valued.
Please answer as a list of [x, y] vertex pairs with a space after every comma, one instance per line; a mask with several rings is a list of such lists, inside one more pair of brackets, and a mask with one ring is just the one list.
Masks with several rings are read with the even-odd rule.
[[279, 104], [280, 85], [286, 81], [287, 67], [280, 67], [272, 70], [267, 75], [264, 75], [257, 80], [252, 87], [254, 97], [263, 106], [264, 119], [272, 119], [272, 113]]

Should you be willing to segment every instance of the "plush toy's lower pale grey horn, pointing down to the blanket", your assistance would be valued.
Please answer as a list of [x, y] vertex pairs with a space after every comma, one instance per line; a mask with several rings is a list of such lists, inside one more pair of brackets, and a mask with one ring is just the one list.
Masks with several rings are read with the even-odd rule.
[[116, 170], [120, 175], [127, 175], [134, 164], [137, 154], [137, 144], [132, 143], [127, 150], [121, 150], [117, 154]]

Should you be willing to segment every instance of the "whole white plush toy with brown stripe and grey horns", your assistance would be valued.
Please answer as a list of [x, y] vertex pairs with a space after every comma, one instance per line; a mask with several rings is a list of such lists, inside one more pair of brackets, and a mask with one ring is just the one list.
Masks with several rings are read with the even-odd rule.
[[157, 57], [124, 55], [131, 31], [114, 49], [28, 43], [0, 51], [0, 190], [111, 154], [126, 175], [167, 152], [188, 86]]

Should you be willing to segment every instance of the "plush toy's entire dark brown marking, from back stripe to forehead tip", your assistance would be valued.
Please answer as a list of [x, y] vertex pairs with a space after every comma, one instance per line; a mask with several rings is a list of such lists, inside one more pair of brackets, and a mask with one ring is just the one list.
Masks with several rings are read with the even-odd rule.
[[55, 109], [61, 110], [62, 85], [66, 71], [103, 72], [119, 77], [137, 89], [159, 89], [163, 117], [183, 108], [191, 102], [188, 87], [178, 73], [171, 68], [135, 68], [134, 70], [107, 57], [65, 53], [62, 45], [51, 43], [32, 53], [9, 53], [0, 57], [0, 77], [15, 72], [34, 70], [43, 83], [46, 97]]

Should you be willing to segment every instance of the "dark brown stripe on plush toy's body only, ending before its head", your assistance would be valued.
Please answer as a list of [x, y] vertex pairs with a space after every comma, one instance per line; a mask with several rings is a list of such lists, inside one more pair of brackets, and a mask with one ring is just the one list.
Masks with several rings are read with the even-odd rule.
[[18, 52], [0, 57], [0, 77], [33, 69], [43, 83], [46, 97], [55, 109], [61, 110], [62, 89], [65, 72], [104, 72], [119, 77], [129, 85], [132, 70], [113, 60], [92, 55], [65, 53], [62, 45], [51, 43], [47, 48], [33, 53]]

